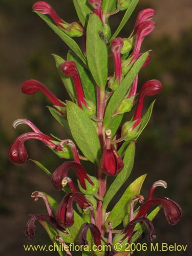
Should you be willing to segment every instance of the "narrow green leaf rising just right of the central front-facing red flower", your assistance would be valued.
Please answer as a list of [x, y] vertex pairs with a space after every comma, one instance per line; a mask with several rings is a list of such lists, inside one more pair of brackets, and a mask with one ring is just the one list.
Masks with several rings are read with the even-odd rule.
[[134, 158], [135, 158], [135, 142], [132, 141], [129, 147], [127, 147], [123, 163], [124, 167], [121, 172], [117, 175], [114, 182], [111, 184], [110, 188], [106, 192], [104, 199], [103, 199], [103, 209], [106, 210], [108, 207], [109, 202], [112, 198], [116, 195], [117, 191], [121, 188], [124, 182], [129, 178], [133, 165], [134, 165]]

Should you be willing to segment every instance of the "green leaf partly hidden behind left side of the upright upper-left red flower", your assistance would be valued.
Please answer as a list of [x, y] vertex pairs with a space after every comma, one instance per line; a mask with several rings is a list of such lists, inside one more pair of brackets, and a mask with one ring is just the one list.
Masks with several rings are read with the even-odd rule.
[[55, 63], [56, 63], [56, 68], [59, 73], [59, 76], [70, 96], [70, 98], [75, 101], [76, 100], [76, 93], [75, 93], [75, 88], [73, 86], [73, 81], [72, 78], [69, 76], [66, 76], [62, 71], [61, 71], [61, 65], [65, 61], [65, 59], [59, 57], [56, 54], [53, 54], [53, 57], [55, 58]]

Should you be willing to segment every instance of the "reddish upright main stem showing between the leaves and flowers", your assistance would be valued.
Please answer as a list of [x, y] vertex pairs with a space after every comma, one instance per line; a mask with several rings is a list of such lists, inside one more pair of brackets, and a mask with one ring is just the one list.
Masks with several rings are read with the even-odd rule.
[[[104, 110], [105, 110], [105, 90], [100, 89], [97, 87], [97, 118], [102, 120], [104, 117]], [[101, 146], [101, 151], [103, 149], [104, 145], [104, 137], [103, 137], [103, 123], [98, 122], [98, 136]], [[99, 189], [98, 189], [98, 195], [100, 197], [104, 197], [106, 192], [106, 176], [102, 173], [100, 163], [99, 165], [96, 165], [96, 175], [97, 179], [99, 181]], [[104, 236], [104, 214], [102, 212], [102, 201], [98, 200], [97, 202], [97, 211], [96, 211], [96, 225], [99, 228], [101, 235]]]

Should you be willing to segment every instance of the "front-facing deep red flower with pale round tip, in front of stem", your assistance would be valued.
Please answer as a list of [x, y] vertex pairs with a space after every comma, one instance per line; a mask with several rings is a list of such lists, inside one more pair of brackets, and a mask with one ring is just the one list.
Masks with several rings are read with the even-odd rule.
[[105, 175], [117, 175], [123, 168], [124, 164], [117, 153], [114, 145], [111, 144], [111, 130], [105, 131], [105, 145], [101, 158], [101, 169]]

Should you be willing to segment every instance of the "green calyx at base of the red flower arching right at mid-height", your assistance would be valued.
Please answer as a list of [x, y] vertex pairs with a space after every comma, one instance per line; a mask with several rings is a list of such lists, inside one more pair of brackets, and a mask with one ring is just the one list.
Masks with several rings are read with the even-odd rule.
[[138, 128], [139, 125], [138, 124], [133, 130], [133, 125], [136, 123], [137, 120], [135, 121], [127, 121], [123, 124], [122, 129], [121, 129], [121, 137], [123, 137], [123, 140], [125, 141], [130, 141], [133, 140], [137, 137], [137, 133], [138, 133]]

